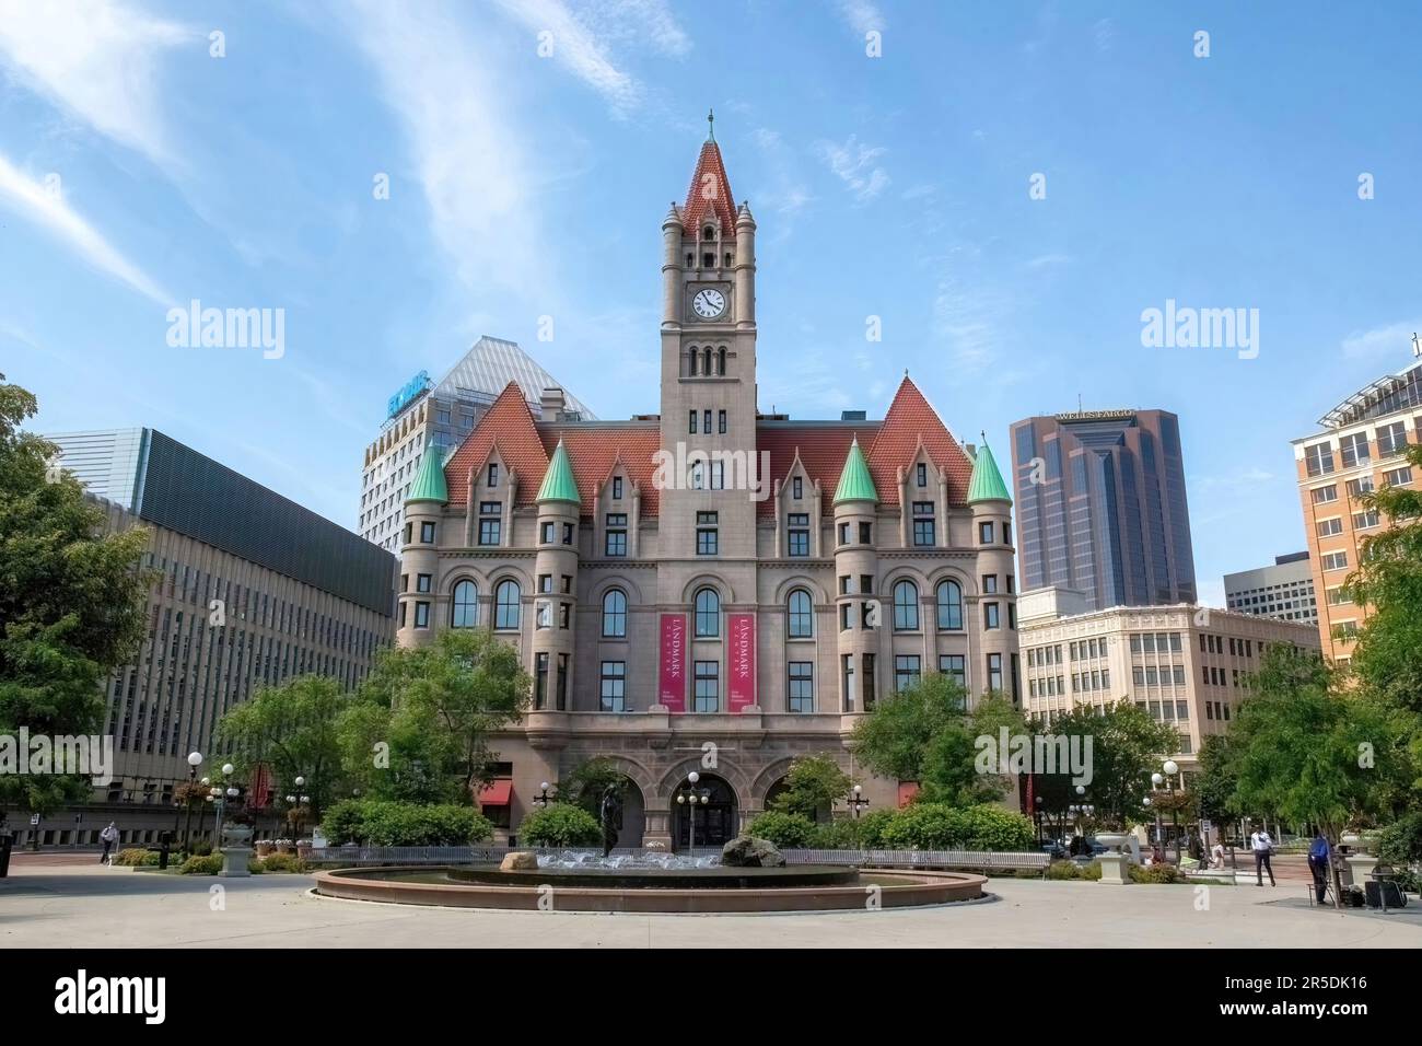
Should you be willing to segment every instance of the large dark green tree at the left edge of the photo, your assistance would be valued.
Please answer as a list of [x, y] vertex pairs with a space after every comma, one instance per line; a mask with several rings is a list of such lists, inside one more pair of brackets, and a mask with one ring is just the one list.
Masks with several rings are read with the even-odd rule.
[[[0, 374], [0, 733], [97, 734], [101, 685], [144, 635], [148, 535], [104, 532], [55, 445], [20, 430], [37, 406]], [[91, 794], [82, 776], [0, 776], [0, 803], [41, 814]]]

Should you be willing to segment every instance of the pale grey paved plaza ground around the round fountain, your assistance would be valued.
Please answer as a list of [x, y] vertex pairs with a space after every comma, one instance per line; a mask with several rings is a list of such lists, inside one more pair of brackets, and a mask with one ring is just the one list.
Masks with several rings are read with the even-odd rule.
[[1172, 948], [1422, 948], [1415, 899], [1391, 915], [1335, 912], [1310, 908], [1301, 882], [1199, 897], [1193, 887], [991, 879], [991, 901], [946, 908], [714, 916], [411, 908], [323, 899], [310, 888], [307, 875], [215, 879], [21, 860], [0, 879], [0, 948], [1111, 948], [1162, 939]]

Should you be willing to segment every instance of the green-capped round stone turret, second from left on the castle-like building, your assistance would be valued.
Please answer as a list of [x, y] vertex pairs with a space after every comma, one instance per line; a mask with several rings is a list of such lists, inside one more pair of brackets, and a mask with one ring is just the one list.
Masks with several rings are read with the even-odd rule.
[[535, 556], [533, 707], [572, 709], [573, 626], [577, 599], [577, 521], [582, 498], [563, 441], [557, 441], [538, 498]]

